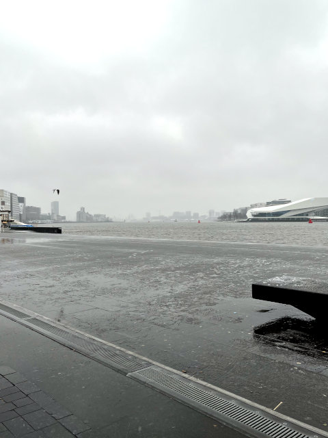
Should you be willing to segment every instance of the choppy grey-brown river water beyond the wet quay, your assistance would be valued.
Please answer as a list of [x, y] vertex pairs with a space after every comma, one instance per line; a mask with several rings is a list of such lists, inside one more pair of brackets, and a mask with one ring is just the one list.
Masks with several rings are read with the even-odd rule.
[[263, 244], [328, 244], [328, 222], [109, 222], [61, 224], [64, 234]]

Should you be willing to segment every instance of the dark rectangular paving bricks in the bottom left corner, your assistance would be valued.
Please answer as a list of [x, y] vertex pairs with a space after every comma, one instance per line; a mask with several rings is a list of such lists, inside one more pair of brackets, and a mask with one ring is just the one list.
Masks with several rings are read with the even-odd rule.
[[0, 438], [69, 438], [90, 427], [34, 383], [0, 366]]

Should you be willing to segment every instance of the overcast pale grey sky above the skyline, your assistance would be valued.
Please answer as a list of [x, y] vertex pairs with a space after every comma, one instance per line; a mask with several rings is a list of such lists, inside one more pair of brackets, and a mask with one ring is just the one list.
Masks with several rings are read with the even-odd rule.
[[326, 0], [0, 6], [0, 188], [27, 205], [74, 220], [328, 196]]

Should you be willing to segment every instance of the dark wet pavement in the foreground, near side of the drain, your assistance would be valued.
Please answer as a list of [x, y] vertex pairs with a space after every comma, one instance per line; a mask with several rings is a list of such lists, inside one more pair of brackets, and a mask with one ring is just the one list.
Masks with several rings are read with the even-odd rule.
[[[9, 365], [33, 388], [26, 391], [25, 382], [28, 395], [16, 391], [10, 399], [2, 392], [14, 386], [0, 389], [1, 438], [243, 436], [3, 316], [0, 330], [0, 372]], [[33, 404], [25, 405], [27, 398]]]

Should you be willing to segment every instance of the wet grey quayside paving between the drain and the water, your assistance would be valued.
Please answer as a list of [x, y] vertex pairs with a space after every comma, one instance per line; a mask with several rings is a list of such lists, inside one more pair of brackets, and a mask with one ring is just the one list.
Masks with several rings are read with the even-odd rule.
[[29, 231], [6, 231], [0, 243], [1, 300], [328, 424], [328, 332], [251, 298], [251, 283], [275, 276], [326, 281], [328, 248]]

